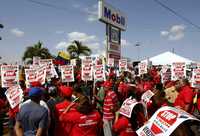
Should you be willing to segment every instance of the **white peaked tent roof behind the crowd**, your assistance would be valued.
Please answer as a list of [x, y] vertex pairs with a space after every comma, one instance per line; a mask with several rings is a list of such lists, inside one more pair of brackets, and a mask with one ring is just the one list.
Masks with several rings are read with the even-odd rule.
[[194, 61], [181, 57], [172, 52], [164, 52], [157, 56], [151, 57], [149, 59], [142, 60], [141, 62], [152, 62], [152, 65], [171, 65], [173, 62], [185, 62], [186, 64], [191, 64]]

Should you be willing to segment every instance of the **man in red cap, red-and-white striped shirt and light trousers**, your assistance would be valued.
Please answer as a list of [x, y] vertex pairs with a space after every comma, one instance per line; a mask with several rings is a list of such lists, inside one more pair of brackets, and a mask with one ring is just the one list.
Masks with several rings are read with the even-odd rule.
[[112, 124], [115, 118], [115, 112], [118, 110], [117, 94], [112, 90], [112, 83], [105, 81], [104, 83], [105, 98], [103, 105], [103, 121], [104, 121], [104, 135], [112, 135]]

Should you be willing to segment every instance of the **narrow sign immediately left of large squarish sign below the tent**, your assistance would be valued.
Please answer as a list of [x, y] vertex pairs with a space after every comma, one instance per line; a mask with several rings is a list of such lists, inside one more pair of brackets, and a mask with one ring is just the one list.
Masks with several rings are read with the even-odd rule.
[[171, 69], [168, 65], [163, 65], [161, 69], [161, 82], [165, 83], [166, 81], [171, 80]]

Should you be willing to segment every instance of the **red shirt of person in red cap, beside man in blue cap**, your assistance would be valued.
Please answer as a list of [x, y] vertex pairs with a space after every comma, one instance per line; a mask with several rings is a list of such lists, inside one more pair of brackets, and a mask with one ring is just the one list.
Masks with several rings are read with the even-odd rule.
[[57, 136], [64, 136], [70, 133], [70, 130], [73, 126], [67, 124], [59, 120], [59, 117], [62, 115], [64, 110], [70, 105], [71, 102], [65, 100], [61, 103], [56, 104], [55, 106], [55, 116], [56, 116], [56, 128], [55, 128], [55, 135]]

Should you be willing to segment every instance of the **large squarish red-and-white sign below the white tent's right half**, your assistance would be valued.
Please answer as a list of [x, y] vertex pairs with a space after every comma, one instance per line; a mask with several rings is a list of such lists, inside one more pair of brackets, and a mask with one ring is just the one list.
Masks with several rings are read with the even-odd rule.
[[171, 80], [178, 80], [186, 77], [186, 65], [184, 62], [172, 63], [172, 77]]

